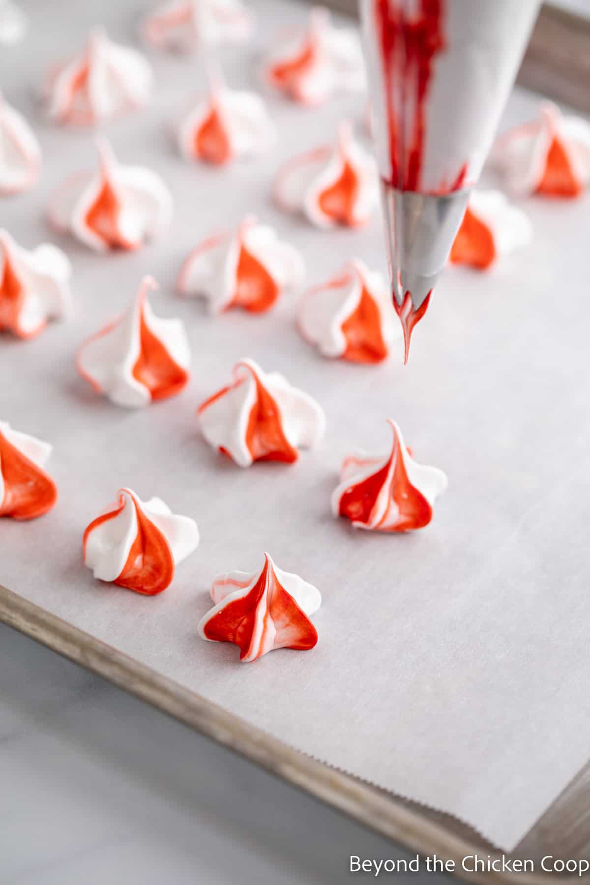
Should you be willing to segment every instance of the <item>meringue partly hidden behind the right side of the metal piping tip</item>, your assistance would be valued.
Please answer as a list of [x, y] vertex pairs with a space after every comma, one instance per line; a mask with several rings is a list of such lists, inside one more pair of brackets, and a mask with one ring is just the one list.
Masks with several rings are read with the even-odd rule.
[[510, 205], [500, 190], [472, 190], [450, 261], [487, 270], [532, 239], [533, 226], [525, 212]]

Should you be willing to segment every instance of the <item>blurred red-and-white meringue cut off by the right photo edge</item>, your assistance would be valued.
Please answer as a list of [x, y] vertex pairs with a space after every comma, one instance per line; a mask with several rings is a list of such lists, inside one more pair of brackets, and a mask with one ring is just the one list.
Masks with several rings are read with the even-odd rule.
[[542, 104], [539, 119], [497, 139], [492, 162], [515, 194], [578, 196], [590, 182], [590, 123]]

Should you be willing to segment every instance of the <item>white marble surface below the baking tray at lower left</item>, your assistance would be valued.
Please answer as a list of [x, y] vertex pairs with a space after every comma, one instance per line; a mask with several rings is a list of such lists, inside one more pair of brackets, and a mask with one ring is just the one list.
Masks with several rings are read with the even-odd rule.
[[0, 625], [0, 885], [366, 881], [350, 854], [406, 856]]

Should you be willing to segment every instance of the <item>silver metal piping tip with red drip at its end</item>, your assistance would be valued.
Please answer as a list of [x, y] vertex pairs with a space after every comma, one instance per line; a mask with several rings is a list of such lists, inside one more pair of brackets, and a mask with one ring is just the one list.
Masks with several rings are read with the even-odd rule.
[[404, 365], [413, 328], [425, 315], [463, 220], [469, 189], [433, 196], [381, 181], [387, 258], [395, 311], [402, 323]]

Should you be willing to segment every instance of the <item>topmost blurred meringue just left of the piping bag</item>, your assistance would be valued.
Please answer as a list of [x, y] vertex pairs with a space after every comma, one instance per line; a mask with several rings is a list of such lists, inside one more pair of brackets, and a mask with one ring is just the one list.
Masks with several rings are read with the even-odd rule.
[[336, 92], [365, 88], [363, 53], [358, 35], [335, 28], [330, 12], [316, 6], [309, 24], [295, 39], [272, 52], [266, 80], [301, 104], [324, 104]]

